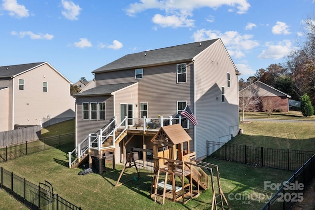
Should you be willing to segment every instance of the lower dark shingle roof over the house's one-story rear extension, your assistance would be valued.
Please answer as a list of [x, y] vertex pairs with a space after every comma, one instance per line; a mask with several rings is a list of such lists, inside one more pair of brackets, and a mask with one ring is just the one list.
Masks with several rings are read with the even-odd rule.
[[111, 85], [99, 85], [95, 88], [83, 91], [81, 93], [77, 93], [72, 95], [73, 97], [81, 97], [81, 96], [98, 96], [98, 95], [112, 95], [114, 92], [126, 88], [130, 85], [133, 85], [137, 82], [128, 82], [121, 84], [111, 84]]

